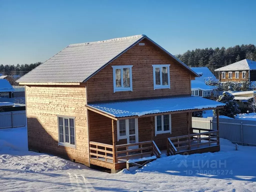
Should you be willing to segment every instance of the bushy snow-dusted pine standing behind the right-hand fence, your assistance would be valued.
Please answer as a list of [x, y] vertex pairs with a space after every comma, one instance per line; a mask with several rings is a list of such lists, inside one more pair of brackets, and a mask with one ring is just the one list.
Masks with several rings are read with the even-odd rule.
[[[240, 113], [240, 110], [238, 109], [239, 105], [237, 104], [236, 100], [234, 100], [234, 95], [231, 95], [229, 92], [224, 91], [223, 95], [220, 95], [217, 101], [226, 103], [223, 109], [219, 109], [219, 115], [234, 118], [236, 114]], [[213, 115], [216, 117], [216, 110], [214, 110]]]

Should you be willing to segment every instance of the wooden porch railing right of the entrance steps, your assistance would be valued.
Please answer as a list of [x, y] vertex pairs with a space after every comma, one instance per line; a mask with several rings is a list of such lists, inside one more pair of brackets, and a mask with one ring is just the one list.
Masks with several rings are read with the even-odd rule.
[[[199, 149], [202, 145], [210, 147], [212, 143], [219, 145], [219, 131], [198, 128], [193, 130], [199, 130], [199, 133], [167, 138], [167, 154], [175, 155], [179, 152]], [[206, 132], [201, 133], [201, 131]], [[202, 140], [207, 142], [201, 142]]]

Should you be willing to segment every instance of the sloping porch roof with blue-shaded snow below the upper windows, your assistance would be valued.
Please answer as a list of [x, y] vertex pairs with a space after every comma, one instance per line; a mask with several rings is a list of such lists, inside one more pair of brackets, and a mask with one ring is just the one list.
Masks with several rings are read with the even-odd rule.
[[[181, 113], [200, 110], [223, 108], [225, 103], [200, 97], [175, 97], [162, 99], [148, 99], [137, 101], [123, 101], [112, 103], [87, 104], [86, 107], [94, 112], [119, 120], [123, 117], [155, 116], [163, 113]], [[127, 118], [125, 118], [127, 119]]]

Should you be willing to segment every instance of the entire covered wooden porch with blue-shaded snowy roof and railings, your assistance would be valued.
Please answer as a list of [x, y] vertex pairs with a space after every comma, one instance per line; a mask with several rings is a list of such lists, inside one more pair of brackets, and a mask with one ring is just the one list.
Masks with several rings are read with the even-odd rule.
[[[179, 106], [176, 99], [166, 100], [168, 110], [161, 109], [163, 99], [155, 99], [155, 105], [148, 100], [130, 101], [126, 104], [116, 102], [87, 105], [90, 164], [109, 168], [112, 173], [116, 173], [126, 168], [128, 160], [147, 161], [151, 156], [160, 158], [161, 150], [167, 150], [168, 155], [182, 154], [186, 151], [197, 153], [196, 146], [199, 152], [219, 151], [218, 130], [209, 130], [205, 133], [199, 130], [199, 134], [194, 133], [194, 129], [191, 128], [191, 112], [206, 108], [217, 109], [218, 113], [218, 109], [224, 104], [211, 100], [206, 102], [206, 99], [198, 97], [183, 97], [179, 100], [194, 105], [191, 101], [199, 99], [200, 104], [206, 107], [193, 109], [190, 106], [183, 106], [181, 110], [177, 110]], [[142, 106], [142, 103], [145, 106]], [[219, 106], [216, 106], [216, 103]], [[129, 109], [133, 105], [137, 105], [141, 112], [133, 112], [134, 108]], [[175, 110], [172, 109], [173, 106], [176, 107]], [[209, 138], [205, 138], [207, 135]], [[208, 143], [204, 143], [207, 140]]]

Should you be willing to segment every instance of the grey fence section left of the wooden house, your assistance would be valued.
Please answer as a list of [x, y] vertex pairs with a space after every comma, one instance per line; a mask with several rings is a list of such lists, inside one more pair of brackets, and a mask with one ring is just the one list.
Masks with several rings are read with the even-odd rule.
[[26, 126], [26, 111], [0, 113], [0, 129]]

